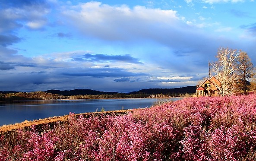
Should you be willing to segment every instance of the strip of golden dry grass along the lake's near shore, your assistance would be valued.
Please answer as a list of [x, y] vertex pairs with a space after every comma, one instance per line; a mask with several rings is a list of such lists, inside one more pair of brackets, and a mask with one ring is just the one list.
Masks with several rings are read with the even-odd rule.
[[[112, 111], [103, 111], [103, 112], [91, 112], [91, 113], [82, 113], [82, 114], [75, 114], [76, 116], [79, 115], [84, 115], [86, 117], [90, 117], [91, 115], [95, 114], [126, 114], [131, 112], [132, 110], [112, 110]], [[27, 128], [32, 125], [45, 125], [45, 124], [51, 124], [51, 123], [56, 123], [56, 122], [64, 122], [68, 120], [69, 115], [64, 115], [64, 116], [59, 116], [59, 117], [49, 117], [45, 119], [39, 119], [39, 120], [33, 120], [33, 121], [28, 121], [25, 120], [22, 123], [16, 123], [16, 124], [10, 124], [10, 125], [3, 125], [0, 126], [0, 134], [1, 133], [6, 133], [8, 131], [16, 130], [16, 129], [22, 129], [22, 128]]]

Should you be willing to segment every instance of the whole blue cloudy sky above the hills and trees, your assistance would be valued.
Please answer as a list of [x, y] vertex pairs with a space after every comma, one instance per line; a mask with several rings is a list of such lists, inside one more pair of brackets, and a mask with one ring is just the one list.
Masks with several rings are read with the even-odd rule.
[[254, 0], [0, 0], [0, 91], [197, 85], [220, 47], [256, 64]]

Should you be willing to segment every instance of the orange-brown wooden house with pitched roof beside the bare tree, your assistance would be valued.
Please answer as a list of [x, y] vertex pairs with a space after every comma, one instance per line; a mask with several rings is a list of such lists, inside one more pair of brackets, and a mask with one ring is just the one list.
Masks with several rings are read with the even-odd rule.
[[205, 80], [197, 89], [196, 96], [217, 96], [219, 95], [219, 90], [217, 86], [220, 86], [221, 82], [218, 81], [214, 76], [210, 79]]

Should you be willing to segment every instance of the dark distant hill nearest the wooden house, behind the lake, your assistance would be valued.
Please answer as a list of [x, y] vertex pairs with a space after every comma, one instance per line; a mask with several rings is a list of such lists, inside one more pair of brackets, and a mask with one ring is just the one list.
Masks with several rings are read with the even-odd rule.
[[129, 95], [137, 95], [139, 93], [143, 94], [172, 94], [172, 93], [195, 93], [196, 92], [196, 85], [194, 86], [187, 86], [187, 87], [180, 87], [180, 88], [149, 88], [149, 89], [142, 89], [139, 91], [134, 91], [127, 93]]

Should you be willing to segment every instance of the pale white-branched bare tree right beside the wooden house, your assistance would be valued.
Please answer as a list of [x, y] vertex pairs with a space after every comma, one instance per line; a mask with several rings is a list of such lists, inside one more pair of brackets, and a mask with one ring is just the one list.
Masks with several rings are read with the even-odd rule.
[[240, 69], [240, 66], [236, 66], [239, 54], [240, 51], [237, 50], [222, 47], [218, 49], [216, 56], [218, 61], [212, 63], [212, 71], [221, 82], [221, 85], [215, 85], [219, 89], [221, 96], [234, 94], [238, 78], [235, 71]]

